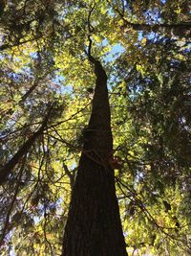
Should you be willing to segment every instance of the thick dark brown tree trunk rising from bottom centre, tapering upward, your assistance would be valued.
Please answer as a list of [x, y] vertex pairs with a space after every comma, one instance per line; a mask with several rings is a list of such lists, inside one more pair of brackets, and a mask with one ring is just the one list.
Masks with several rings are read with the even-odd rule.
[[119, 218], [107, 76], [95, 64], [96, 89], [74, 183], [62, 256], [127, 256]]

